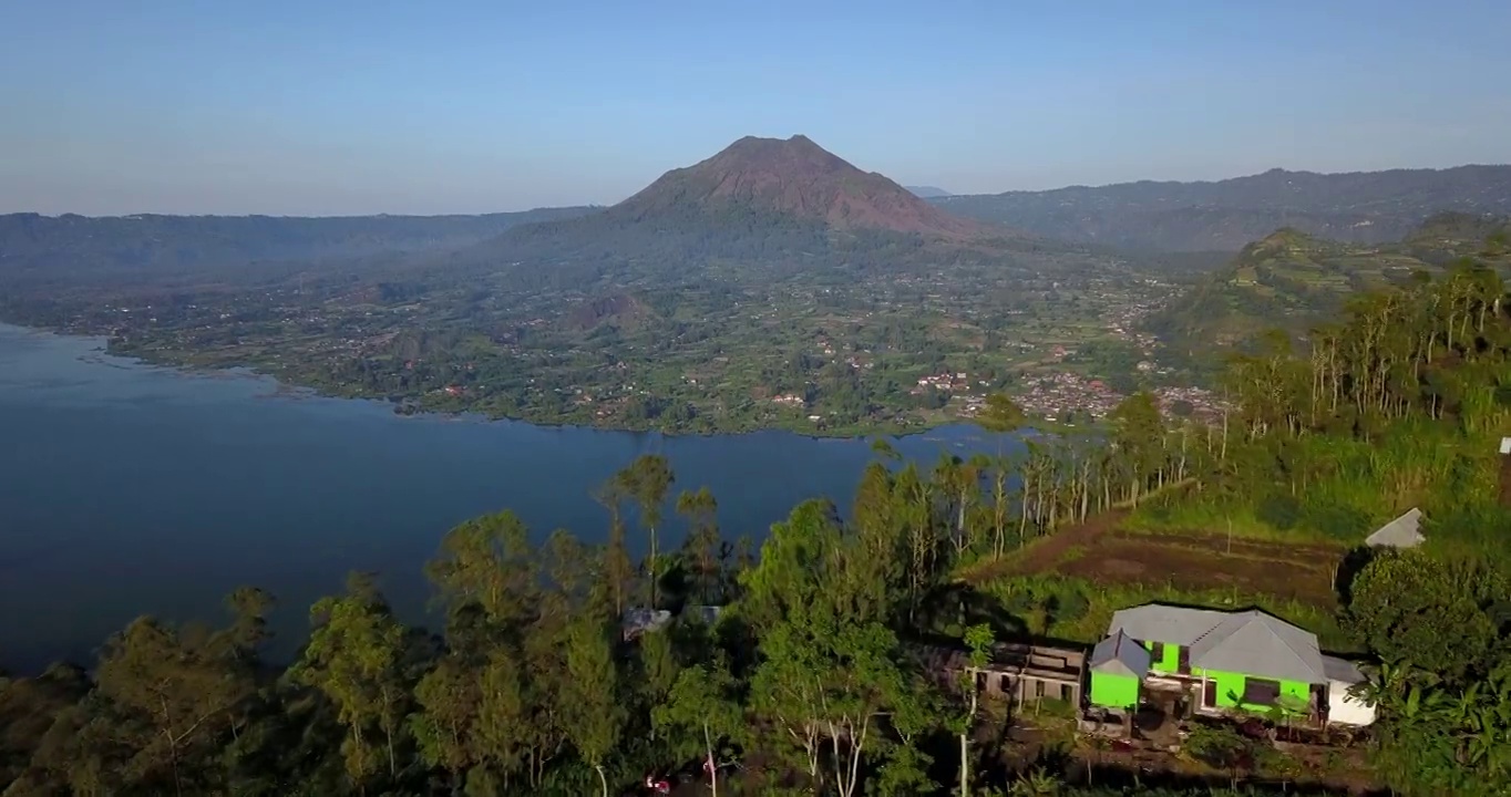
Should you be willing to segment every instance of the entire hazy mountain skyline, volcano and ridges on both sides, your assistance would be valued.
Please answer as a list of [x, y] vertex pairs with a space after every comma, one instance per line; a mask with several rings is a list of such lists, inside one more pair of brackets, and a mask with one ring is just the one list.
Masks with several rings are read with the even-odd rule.
[[740, 139], [607, 208], [323, 219], [21, 213], [0, 216], [0, 290], [452, 267], [555, 284], [654, 272], [665, 282], [740, 263], [774, 273], [819, 263], [884, 270], [979, 263], [1088, 246], [1238, 251], [1277, 228], [1380, 243], [1401, 240], [1443, 210], [1511, 213], [1511, 166], [1274, 169], [1218, 183], [919, 196], [935, 192], [944, 193], [905, 189], [793, 136]]

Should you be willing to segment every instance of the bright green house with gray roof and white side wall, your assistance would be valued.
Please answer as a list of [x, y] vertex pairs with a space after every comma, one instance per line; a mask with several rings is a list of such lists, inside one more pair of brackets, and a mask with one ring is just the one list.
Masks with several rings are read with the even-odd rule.
[[[1088, 702], [1105, 709], [1130, 711], [1153, 693], [1165, 693], [1189, 712], [1280, 708], [1312, 723], [1334, 722], [1330, 703], [1363, 679], [1352, 664], [1322, 655], [1316, 634], [1272, 614], [1163, 604], [1114, 613], [1086, 669]], [[1339, 722], [1364, 715], [1352, 711]]]

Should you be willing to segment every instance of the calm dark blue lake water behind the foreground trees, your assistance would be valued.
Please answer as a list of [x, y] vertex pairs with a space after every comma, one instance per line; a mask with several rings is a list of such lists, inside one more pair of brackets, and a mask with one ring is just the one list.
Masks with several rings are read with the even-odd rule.
[[[902, 438], [932, 462], [997, 442], [973, 427]], [[240, 584], [273, 592], [287, 655], [308, 605], [354, 569], [423, 619], [420, 572], [459, 521], [515, 510], [544, 537], [603, 539], [589, 491], [642, 453], [677, 489], [707, 485], [733, 539], [799, 501], [846, 507], [867, 441], [784, 432], [707, 438], [396, 417], [290, 397], [246, 374], [189, 374], [104, 355], [103, 341], [0, 325], [0, 666], [92, 651], [138, 614], [222, 617]], [[668, 533], [669, 537], [680, 530]], [[675, 542], [669, 539], [669, 542]]]

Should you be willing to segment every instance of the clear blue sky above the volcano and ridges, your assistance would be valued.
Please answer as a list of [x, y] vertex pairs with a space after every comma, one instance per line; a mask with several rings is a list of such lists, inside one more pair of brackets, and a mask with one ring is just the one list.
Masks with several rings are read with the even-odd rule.
[[0, 5], [0, 211], [610, 204], [745, 134], [958, 193], [1511, 162], [1505, 0]]

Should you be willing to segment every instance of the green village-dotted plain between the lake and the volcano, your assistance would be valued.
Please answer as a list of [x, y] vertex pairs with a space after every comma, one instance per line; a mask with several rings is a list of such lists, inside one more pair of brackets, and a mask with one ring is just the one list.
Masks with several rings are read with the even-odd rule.
[[1150, 343], [1132, 325], [1157, 306], [1157, 281], [1058, 260], [1014, 270], [1011, 291], [1003, 275], [972, 273], [843, 290], [795, 275], [487, 314], [468, 306], [467, 282], [432, 284], [423, 300], [289, 287], [0, 305], [6, 320], [106, 335], [112, 353], [248, 367], [402, 412], [669, 433], [905, 433], [1055, 374], [1124, 389], [1179, 382], [1135, 379]]

